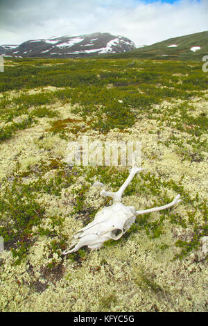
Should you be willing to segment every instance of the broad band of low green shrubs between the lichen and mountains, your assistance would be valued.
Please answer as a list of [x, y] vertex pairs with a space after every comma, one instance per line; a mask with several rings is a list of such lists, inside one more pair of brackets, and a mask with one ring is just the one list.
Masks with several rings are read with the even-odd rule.
[[[200, 89], [206, 89], [205, 86], [207, 85], [206, 78], [198, 64], [196, 64], [193, 74], [191, 67], [188, 65], [185, 67], [184, 64], [179, 62], [171, 62], [171, 64], [169, 62], [160, 62], [159, 65], [155, 65], [155, 62], [133, 61], [132, 66], [132, 61], [126, 62], [126, 60], [118, 60], [116, 65], [112, 65], [110, 60], [89, 61], [84, 59], [76, 60], [75, 69], [75, 64], [67, 62], [67, 60], [60, 60], [62, 65], [49, 65], [48, 67], [44, 65], [44, 60], [37, 61], [39, 65], [37, 65], [37, 62], [33, 62], [34, 66], [31, 67], [26, 60], [26, 65], [29, 67], [28, 70], [25, 70], [24, 67], [21, 75], [18, 72], [19, 68], [16, 66], [10, 67], [5, 74], [1, 74], [0, 81], [4, 80], [5, 84], [7, 83], [3, 89], [6, 90], [5, 87], [8, 87], [8, 78], [10, 78], [10, 89], [11, 87], [12, 89], [21, 89], [26, 75], [30, 76], [30, 74], [33, 75], [33, 78], [26, 83], [26, 88], [46, 85], [65, 88], [56, 92], [21, 94], [21, 96], [15, 98], [13, 103], [20, 106], [24, 103], [26, 108], [32, 105], [51, 104], [57, 99], [62, 101], [63, 104], [67, 102], [72, 105], [79, 104], [74, 112], [79, 113], [85, 119], [87, 116], [91, 117], [93, 113], [96, 119], [90, 123], [90, 127], [104, 133], [114, 128], [123, 130], [133, 126], [141, 113], [144, 111], [149, 112], [152, 106], [161, 103], [162, 99], [189, 99], [192, 94], [187, 90], [195, 89], [199, 91]], [[52, 60], [51, 62], [59, 62], [59, 60]], [[136, 69], [137, 66], [142, 71]], [[105, 71], [103, 71], [103, 68], [105, 68]], [[180, 78], [182, 79], [180, 87], [177, 83], [178, 77], [173, 76], [173, 73], [178, 71], [180, 71]], [[188, 77], [187, 73], [190, 73]], [[158, 84], [161, 87], [158, 87]], [[113, 87], [103, 87], [107, 85], [113, 85]], [[4, 98], [1, 105], [2, 108], [6, 108], [11, 105], [11, 102]], [[37, 114], [37, 117], [53, 116], [54, 114], [51, 111], [46, 112], [46, 110], [43, 110], [43, 112], [42, 110], [37, 108], [34, 114]], [[206, 121], [200, 119], [200, 117], [194, 120], [191, 119], [189, 119], [189, 123], [196, 126], [206, 126]], [[64, 123], [64, 121], [62, 122]], [[62, 123], [60, 124], [62, 125]], [[64, 128], [64, 126], [57, 125], [52, 128], [53, 132], [61, 132], [60, 129]], [[179, 122], [178, 128], [182, 128]], [[190, 130], [190, 128], [188, 129]], [[71, 130], [73, 130], [71, 131], [73, 133], [82, 131], [76, 128]], [[195, 130], [196, 132], [200, 132], [200, 128], [198, 128], [198, 131]]]

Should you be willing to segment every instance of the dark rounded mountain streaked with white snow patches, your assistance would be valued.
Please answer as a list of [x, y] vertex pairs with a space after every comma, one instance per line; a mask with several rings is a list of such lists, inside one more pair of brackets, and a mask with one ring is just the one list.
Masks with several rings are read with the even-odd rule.
[[134, 42], [110, 33], [59, 36], [29, 40], [20, 45], [1, 45], [1, 55], [42, 58], [80, 58], [103, 53], [122, 53], [136, 49]]

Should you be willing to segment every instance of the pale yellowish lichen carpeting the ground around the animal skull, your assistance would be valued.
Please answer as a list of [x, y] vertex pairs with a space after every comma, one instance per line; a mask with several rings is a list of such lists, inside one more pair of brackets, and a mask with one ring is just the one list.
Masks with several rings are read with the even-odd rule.
[[[200, 112], [205, 112], [204, 104], [204, 100], [193, 103], [194, 108], [199, 108]], [[168, 108], [178, 103], [166, 101], [157, 108], [164, 108], [165, 105]], [[55, 109], [60, 112], [59, 119], [74, 117], [69, 104], [60, 105], [59, 108], [55, 105]], [[55, 119], [39, 119], [37, 125], [17, 132], [12, 139], [1, 144], [0, 182], [13, 173], [26, 171], [41, 160], [49, 162], [51, 158], [59, 161], [64, 159], [68, 141], [61, 139], [58, 134], [46, 132], [51, 126], [49, 121], [53, 120]], [[145, 117], [125, 131], [111, 130], [102, 135], [98, 130], [89, 129], [78, 138], [88, 135], [101, 141], [141, 141], [142, 167], [146, 168], [147, 173], [155, 175], [161, 182], [180, 182], [190, 198], [195, 198], [198, 192], [201, 201], [207, 199], [207, 162], [182, 160], [174, 144], [166, 146], [165, 141], [172, 132], [172, 127], [168, 126], [166, 121], [161, 126], [161, 121], [153, 122]], [[184, 142], [190, 137], [187, 132], [178, 131], [178, 135]], [[68, 140], [71, 139], [73, 135], [69, 134]], [[15, 172], [17, 162], [20, 164], [19, 170]], [[117, 171], [122, 170], [123, 167], [118, 166]], [[46, 171], [43, 175], [45, 182], [53, 180], [54, 177], [55, 170]], [[27, 184], [34, 180], [36, 179], [32, 173], [31, 178], [24, 182]], [[207, 271], [205, 253], [202, 252], [205, 238], [201, 239], [199, 248], [193, 250], [191, 255], [182, 260], [174, 259], [175, 255], [180, 253], [175, 242], [178, 239], [190, 241], [193, 225], [184, 228], [166, 218], [159, 237], [149, 237], [145, 228], [140, 228], [138, 232], [128, 234], [123, 241], [95, 252], [85, 252], [83, 257], [80, 256], [74, 261], [60, 257], [57, 252], [51, 252], [49, 242], [53, 237], [49, 239], [46, 235], [38, 235], [39, 227], [43, 231], [54, 232], [54, 239], [58, 239], [60, 226], [52, 225], [52, 216], [62, 216], [60, 234], [64, 234], [67, 239], [83, 228], [83, 213], [74, 213], [77, 196], [83, 185], [87, 185], [85, 209], [99, 209], [103, 205], [103, 199], [99, 196], [101, 189], [91, 187], [92, 184], [86, 182], [85, 173], [78, 176], [73, 185], [62, 189], [60, 196], [38, 194], [37, 201], [44, 205], [46, 212], [40, 225], [32, 229], [37, 236], [33, 238], [26, 260], [19, 266], [14, 266], [15, 259], [10, 250], [0, 253], [1, 311], [206, 311]], [[159, 195], [149, 196], [148, 191], [138, 194], [142, 185], [138, 180], [135, 192], [124, 196], [125, 205], [144, 209], [146, 206], [151, 207], [154, 200], [159, 200], [159, 196], [162, 198], [164, 193], [169, 198], [175, 196], [173, 189], [163, 186]], [[107, 187], [111, 190], [110, 185]], [[2, 184], [1, 192], [4, 191], [6, 186]], [[187, 222], [187, 212], [191, 212], [191, 209], [191, 204], [182, 203], [174, 209], [174, 214], [182, 216]], [[159, 221], [159, 216], [161, 215], [158, 212], [153, 213], [147, 217], [148, 222]], [[141, 221], [139, 218], [138, 222]], [[200, 212], [196, 213], [195, 218], [200, 225]], [[55, 272], [47, 269], [53, 262], [60, 266], [62, 271], [57, 279]], [[42, 291], [37, 291], [37, 283], [42, 286]]]

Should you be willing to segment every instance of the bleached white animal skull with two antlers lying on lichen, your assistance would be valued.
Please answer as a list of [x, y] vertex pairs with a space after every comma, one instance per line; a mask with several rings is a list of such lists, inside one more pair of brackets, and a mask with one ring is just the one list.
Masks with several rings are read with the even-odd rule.
[[119, 190], [116, 192], [110, 192], [103, 189], [101, 191], [101, 196], [112, 198], [112, 205], [101, 209], [101, 211], [96, 213], [94, 221], [85, 226], [85, 228], [78, 230], [70, 239], [71, 246], [68, 250], [62, 252], [62, 255], [75, 252], [83, 246], [88, 246], [89, 249], [101, 248], [103, 243], [107, 240], [120, 239], [130, 228], [132, 223], [135, 223], [137, 215], [157, 212], [180, 203], [180, 195], [177, 195], [175, 199], [167, 205], [144, 209], [141, 211], [136, 211], [135, 207], [125, 206], [121, 203], [121, 196], [123, 195], [125, 188], [128, 187], [135, 174], [144, 170], [136, 166], [136, 155], [137, 152], [135, 151], [132, 157], [132, 169], [130, 170], [130, 174]]

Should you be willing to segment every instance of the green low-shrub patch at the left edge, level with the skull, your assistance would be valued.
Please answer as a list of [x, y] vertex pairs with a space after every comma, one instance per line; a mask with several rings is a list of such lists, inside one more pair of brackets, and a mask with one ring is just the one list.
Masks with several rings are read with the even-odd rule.
[[14, 180], [0, 198], [0, 212], [1, 237], [6, 248], [12, 248], [12, 255], [17, 257], [15, 264], [20, 264], [31, 246], [32, 228], [41, 223], [45, 209], [37, 203], [35, 194]]

